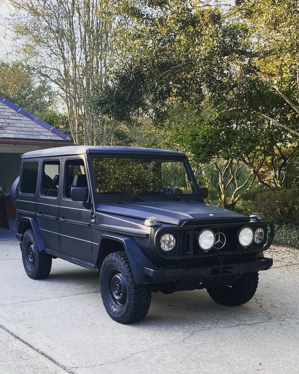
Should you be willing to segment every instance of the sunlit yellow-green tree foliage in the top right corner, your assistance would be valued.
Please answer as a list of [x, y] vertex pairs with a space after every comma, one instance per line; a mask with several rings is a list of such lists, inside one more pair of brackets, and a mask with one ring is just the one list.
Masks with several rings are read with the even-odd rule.
[[[235, 17], [249, 25], [249, 37], [257, 50], [270, 53], [255, 60], [256, 76], [279, 95], [283, 113], [267, 116], [274, 125], [298, 139], [299, 119], [299, 13], [297, 0], [238, 0]], [[281, 122], [285, 120], [284, 122]]]

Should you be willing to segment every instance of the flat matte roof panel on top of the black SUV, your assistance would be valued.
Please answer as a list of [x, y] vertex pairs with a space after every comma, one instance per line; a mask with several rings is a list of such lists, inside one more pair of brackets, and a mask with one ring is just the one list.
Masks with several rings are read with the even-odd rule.
[[101, 154], [107, 156], [167, 156], [167, 157], [185, 157], [184, 153], [170, 151], [158, 148], [142, 148], [142, 147], [114, 147], [109, 145], [70, 145], [67, 147], [57, 147], [49, 149], [41, 149], [24, 153], [23, 158], [32, 157], [50, 157], [50, 156], [69, 156], [75, 154]]

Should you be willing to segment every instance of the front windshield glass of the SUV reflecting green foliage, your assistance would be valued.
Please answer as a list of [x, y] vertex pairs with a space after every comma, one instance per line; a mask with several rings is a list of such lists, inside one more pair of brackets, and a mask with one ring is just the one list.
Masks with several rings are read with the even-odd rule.
[[160, 159], [92, 159], [96, 192], [191, 194], [194, 186], [184, 162]]

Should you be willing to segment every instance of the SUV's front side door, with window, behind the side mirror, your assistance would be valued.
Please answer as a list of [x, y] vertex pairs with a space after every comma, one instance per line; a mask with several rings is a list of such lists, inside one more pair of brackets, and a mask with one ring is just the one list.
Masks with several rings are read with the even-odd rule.
[[[62, 252], [92, 263], [92, 204], [84, 156], [64, 157], [63, 190], [59, 211]], [[77, 177], [78, 176], [78, 177]], [[74, 180], [76, 186], [74, 186]], [[89, 200], [71, 200], [72, 187], [87, 187]]]

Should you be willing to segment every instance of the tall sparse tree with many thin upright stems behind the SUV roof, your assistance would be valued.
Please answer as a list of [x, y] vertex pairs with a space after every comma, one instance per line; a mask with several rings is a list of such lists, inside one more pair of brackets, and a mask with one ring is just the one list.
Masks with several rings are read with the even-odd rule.
[[[124, 40], [121, 1], [10, 0], [10, 27], [36, 72], [63, 93], [77, 144], [107, 144], [113, 123], [93, 111], [93, 85], [106, 85]], [[37, 61], [36, 61], [37, 60]]]

